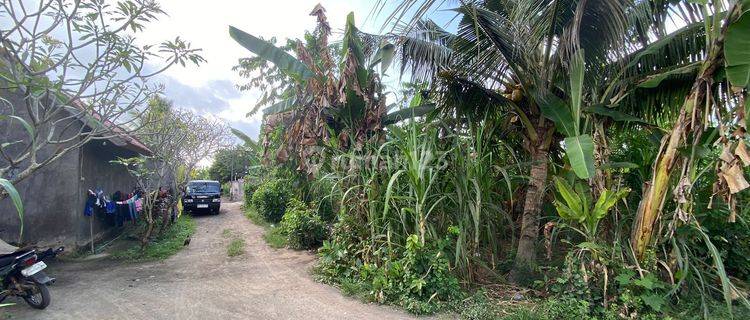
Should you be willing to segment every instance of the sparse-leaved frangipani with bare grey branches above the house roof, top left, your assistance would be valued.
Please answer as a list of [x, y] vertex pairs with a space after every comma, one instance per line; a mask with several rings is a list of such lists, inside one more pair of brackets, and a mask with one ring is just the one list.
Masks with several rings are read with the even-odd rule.
[[137, 43], [164, 14], [150, 0], [0, 2], [0, 178], [17, 184], [91, 140], [138, 129], [160, 90], [148, 80], [204, 62], [180, 38]]

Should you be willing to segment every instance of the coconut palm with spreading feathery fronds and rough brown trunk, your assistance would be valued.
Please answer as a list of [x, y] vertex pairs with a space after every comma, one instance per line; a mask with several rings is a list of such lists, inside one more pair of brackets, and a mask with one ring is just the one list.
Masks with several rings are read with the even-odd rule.
[[[404, 1], [399, 10], [417, 3]], [[429, 5], [431, 1], [420, 7]], [[591, 94], [584, 95], [583, 88], [601, 81], [598, 67], [619, 56], [628, 40], [630, 10], [628, 1], [462, 1], [455, 35], [434, 23], [404, 28], [408, 33], [400, 42], [401, 54], [413, 73], [430, 70], [435, 78], [480, 91], [492, 105], [512, 110], [523, 124], [531, 165], [514, 280], [536, 260], [549, 152], [557, 146], [557, 136], [565, 137], [576, 174], [584, 179], [594, 175], [594, 143], [587, 133], [591, 124], [583, 106]]]

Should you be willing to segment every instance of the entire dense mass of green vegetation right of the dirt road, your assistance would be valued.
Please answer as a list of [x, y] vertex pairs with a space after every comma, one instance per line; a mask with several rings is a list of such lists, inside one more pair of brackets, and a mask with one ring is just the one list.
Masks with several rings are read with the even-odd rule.
[[393, 31], [340, 41], [321, 6], [299, 40], [230, 27], [264, 92], [251, 217], [415, 314], [746, 317], [750, 2], [453, 5], [380, 1]]

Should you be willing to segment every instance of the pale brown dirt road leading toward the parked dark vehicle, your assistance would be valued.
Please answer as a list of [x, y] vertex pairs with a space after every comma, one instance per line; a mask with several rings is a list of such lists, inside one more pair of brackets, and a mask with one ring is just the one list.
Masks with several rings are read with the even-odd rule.
[[[218, 216], [196, 217], [190, 245], [163, 261], [108, 260], [50, 266], [58, 281], [52, 304], [33, 310], [22, 300], [0, 309], [12, 319], [405, 319], [393, 308], [344, 297], [310, 275], [314, 255], [268, 247], [263, 230], [226, 203]], [[229, 258], [231, 229], [247, 243]], [[13, 300], [13, 299], [10, 299]]]

